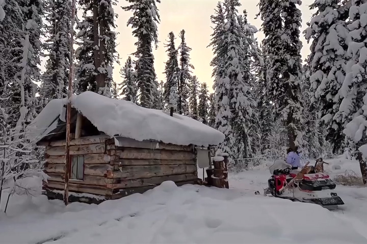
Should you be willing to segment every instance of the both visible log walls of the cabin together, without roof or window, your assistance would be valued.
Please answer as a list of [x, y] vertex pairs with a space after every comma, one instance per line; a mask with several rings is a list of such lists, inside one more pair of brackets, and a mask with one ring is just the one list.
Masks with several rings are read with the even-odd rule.
[[[65, 141], [46, 146], [45, 172], [50, 176], [46, 189], [63, 190]], [[183, 185], [194, 184], [198, 178], [191, 146], [127, 138], [115, 146], [114, 139], [92, 136], [71, 140], [70, 155], [84, 155], [84, 180], [70, 180], [69, 190], [106, 199], [142, 193], [165, 180]]]

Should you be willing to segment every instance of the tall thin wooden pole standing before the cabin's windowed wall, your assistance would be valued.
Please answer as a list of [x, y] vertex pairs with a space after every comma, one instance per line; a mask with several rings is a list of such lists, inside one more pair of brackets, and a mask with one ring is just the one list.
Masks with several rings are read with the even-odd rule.
[[71, 26], [70, 26], [70, 66], [69, 66], [69, 89], [68, 89], [68, 105], [66, 115], [66, 153], [65, 153], [65, 187], [64, 187], [64, 203], [69, 203], [69, 176], [70, 176], [70, 117], [71, 117], [71, 96], [72, 96], [72, 80], [74, 74], [73, 58], [74, 58], [74, 22], [75, 22], [75, 0], [71, 3]]

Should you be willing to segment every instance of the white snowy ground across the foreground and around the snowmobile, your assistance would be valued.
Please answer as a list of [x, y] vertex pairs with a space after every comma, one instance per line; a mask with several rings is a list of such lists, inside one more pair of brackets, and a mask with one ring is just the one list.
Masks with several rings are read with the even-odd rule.
[[[340, 162], [339, 162], [340, 161]], [[328, 161], [330, 162], [330, 161]], [[332, 160], [358, 172], [358, 164]], [[0, 215], [1, 243], [367, 243], [367, 188], [337, 186], [344, 206], [321, 206], [254, 195], [265, 188], [266, 166], [231, 175], [230, 188], [177, 188], [100, 205], [11, 198]], [[3, 198], [4, 199], [4, 198]]]

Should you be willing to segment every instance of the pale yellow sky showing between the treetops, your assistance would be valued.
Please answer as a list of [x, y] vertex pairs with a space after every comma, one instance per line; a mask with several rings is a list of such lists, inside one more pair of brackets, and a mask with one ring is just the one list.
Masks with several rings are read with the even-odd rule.
[[[255, 15], [258, 13], [257, 4], [259, 0], [241, 0], [242, 6], [240, 13], [243, 9], [247, 9], [249, 22], [255, 25], [258, 29], [261, 26], [261, 20], [255, 19]], [[301, 7], [302, 11], [302, 29], [306, 28], [306, 22], [311, 17], [311, 11], [308, 8], [313, 0], [303, 0]], [[159, 13], [161, 15], [161, 23], [158, 26], [159, 31], [159, 47], [154, 50], [154, 67], [158, 76], [158, 81], [165, 80], [163, 74], [165, 64], [167, 60], [167, 54], [165, 52], [164, 43], [166, 43], [168, 33], [174, 32], [175, 36], [181, 29], [186, 31], [187, 44], [192, 48], [191, 51], [191, 63], [194, 65], [195, 70], [193, 74], [196, 75], [200, 82], [206, 82], [209, 88], [212, 90], [212, 67], [209, 65], [213, 58], [211, 48], [206, 46], [210, 42], [210, 35], [212, 34], [210, 16], [214, 13], [218, 0], [162, 0], [161, 4], [158, 4]], [[134, 43], [136, 39], [132, 36], [132, 28], [126, 26], [128, 18], [132, 15], [131, 12], [123, 11], [120, 6], [126, 6], [124, 0], [119, 0], [118, 5], [115, 7], [116, 13], [119, 17], [117, 19], [117, 31], [119, 32], [117, 38], [117, 51], [120, 55], [120, 62], [123, 65], [130, 53], [136, 50]], [[257, 33], [258, 40], [263, 39], [262, 33]], [[303, 34], [301, 35], [303, 43], [302, 56], [303, 59], [309, 53], [309, 46], [305, 41]], [[179, 40], [176, 41], [178, 46]], [[115, 66], [114, 80], [121, 82], [120, 67]]]

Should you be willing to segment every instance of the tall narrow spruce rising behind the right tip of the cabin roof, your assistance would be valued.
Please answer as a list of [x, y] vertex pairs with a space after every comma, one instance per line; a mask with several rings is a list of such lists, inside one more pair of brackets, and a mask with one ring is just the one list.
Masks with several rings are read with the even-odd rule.
[[[232, 128], [229, 124], [231, 111], [229, 109], [229, 78], [224, 69], [225, 55], [227, 54], [227, 43], [224, 42], [227, 33], [225, 32], [225, 13], [222, 4], [219, 2], [215, 9], [215, 14], [211, 16], [213, 34], [211, 43], [214, 57], [211, 62], [213, 67], [212, 76], [214, 77], [213, 88], [215, 90], [215, 114], [216, 121], [213, 126], [225, 135], [225, 139], [219, 144], [218, 149], [222, 153], [230, 155], [229, 163], [233, 164], [233, 153], [231, 144], [233, 143]], [[211, 104], [213, 106], [213, 103]], [[213, 110], [212, 110], [213, 112]]]

